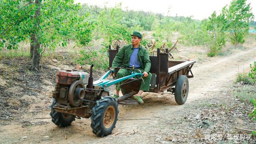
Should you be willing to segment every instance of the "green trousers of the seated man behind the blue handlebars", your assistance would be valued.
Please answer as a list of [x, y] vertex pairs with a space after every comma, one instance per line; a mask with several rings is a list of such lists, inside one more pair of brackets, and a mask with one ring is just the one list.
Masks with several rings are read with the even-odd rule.
[[[142, 69], [142, 68], [135, 68], [135, 69], [140, 70], [141, 73], [144, 72], [144, 69]], [[138, 71], [134, 71], [134, 72], [138, 72]], [[122, 78], [124, 76], [130, 75], [131, 73], [132, 73], [132, 70], [127, 70], [127, 69], [120, 68], [120, 70], [116, 74], [116, 78], [117, 79]], [[152, 74], [150, 72], [148, 72], [148, 76], [143, 77], [144, 83], [143, 83], [143, 81], [141, 82], [140, 90], [149, 91], [149, 85], [150, 85], [151, 78], [152, 78]], [[116, 83], [116, 90], [120, 90], [120, 84], [122, 84], [122, 82]]]

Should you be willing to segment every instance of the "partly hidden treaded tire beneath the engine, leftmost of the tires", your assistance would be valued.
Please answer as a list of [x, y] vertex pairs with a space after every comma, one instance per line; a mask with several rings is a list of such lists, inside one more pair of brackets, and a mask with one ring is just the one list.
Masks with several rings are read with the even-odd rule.
[[60, 127], [66, 127], [66, 126], [70, 126], [71, 123], [75, 120], [76, 116], [73, 116], [66, 119], [63, 115], [63, 113], [61, 112], [56, 112], [54, 109], [53, 109], [53, 106], [56, 104], [56, 100], [54, 99], [53, 102], [52, 102], [52, 105], [51, 105], [51, 113], [50, 113], [50, 116], [52, 117], [52, 122], [54, 124], [56, 124], [57, 126], [60, 126]]

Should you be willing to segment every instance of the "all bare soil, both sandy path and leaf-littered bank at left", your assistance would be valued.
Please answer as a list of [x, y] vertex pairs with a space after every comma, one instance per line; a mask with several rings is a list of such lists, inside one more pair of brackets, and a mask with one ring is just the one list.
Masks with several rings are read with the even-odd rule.
[[[119, 105], [116, 128], [99, 138], [90, 119], [60, 128], [49, 118], [56, 71], [74, 66], [44, 60], [42, 72], [36, 74], [26, 71], [29, 60], [6, 59], [0, 64], [0, 143], [255, 143], [255, 137], [234, 130], [256, 129], [248, 116], [252, 105], [230, 95], [238, 69], [248, 70], [254, 60], [256, 48], [248, 48], [194, 64], [185, 104], [178, 105], [169, 92], [145, 92], [143, 105]], [[95, 79], [100, 75], [95, 73]]]

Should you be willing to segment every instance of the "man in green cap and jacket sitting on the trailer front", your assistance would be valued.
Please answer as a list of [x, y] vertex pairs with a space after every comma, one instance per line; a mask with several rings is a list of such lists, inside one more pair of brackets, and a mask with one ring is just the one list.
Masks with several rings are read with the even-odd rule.
[[[144, 82], [140, 85], [140, 90], [138, 94], [134, 96], [138, 102], [143, 104], [143, 100], [141, 98], [141, 94], [143, 91], [149, 91], [150, 80], [152, 74], [149, 72], [151, 62], [148, 55], [148, 50], [142, 45], [140, 42], [142, 40], [142, 34], [140, 32], [134, 31], [132, 34], [132, 44], [128, 44], [123, 46], [120, 51], [116, 54], [114, 61], [112, 62], [112, 70], [114, 67], [126, 67], [132, 68], [134, 66], [135, 69], [141, 70], [144, 74], [143, 79]], [[124, 76], [128, 76], [131, 74], [132, 70], [120, 69], [116, 75], [116, 78], [122, 78]], [[114, 94], [113, 98], [119, 97], [121, 82], [116, 84], [116, 94]]]

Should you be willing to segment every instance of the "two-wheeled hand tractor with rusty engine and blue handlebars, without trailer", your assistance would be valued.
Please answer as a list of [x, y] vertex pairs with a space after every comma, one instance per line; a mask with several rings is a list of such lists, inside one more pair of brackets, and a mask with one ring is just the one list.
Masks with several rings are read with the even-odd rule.
[[90, 75], [80, 70], [57, 72], [50, 116], [54, 124], [62, 127], [70, 126], [75, 118], [91, 118], [93, 133], [103, 137], [111, 134], [116, 125], [118, 102], [136, 94], [131, 92], [114, 99], [110, 97], [107, 88], [127, 79], [136, 80], [143, 74], [140, 70], [133, 69], [134, 72], [129, 76], [106, 80], [108, 75], [114, 77], [114, 71], [109, 70], [99, 80], [93, 82], [92, 68], [93, 65], [90, 68]]

